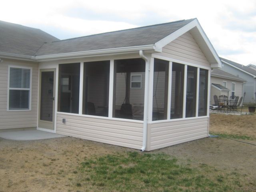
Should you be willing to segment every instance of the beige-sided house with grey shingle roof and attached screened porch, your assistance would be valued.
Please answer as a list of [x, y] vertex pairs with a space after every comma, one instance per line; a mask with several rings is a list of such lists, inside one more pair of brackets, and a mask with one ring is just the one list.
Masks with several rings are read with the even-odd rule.
[[0, 129], [142, 151], [208, 136], [210, 70], [221, 61], [197, 19], [67, 40], [0, 25]]

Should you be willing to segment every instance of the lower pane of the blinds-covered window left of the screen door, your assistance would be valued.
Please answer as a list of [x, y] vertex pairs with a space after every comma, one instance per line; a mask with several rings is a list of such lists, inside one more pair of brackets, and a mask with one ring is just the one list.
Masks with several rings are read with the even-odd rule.
[[28, 110], [29, 90], [9, 90], [9, 109]]

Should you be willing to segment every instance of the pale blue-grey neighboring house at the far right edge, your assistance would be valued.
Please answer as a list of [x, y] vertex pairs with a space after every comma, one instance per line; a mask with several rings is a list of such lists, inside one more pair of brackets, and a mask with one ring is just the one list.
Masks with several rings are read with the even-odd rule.
[[243, 92], [246, 92], [244, 103], [253, 102], [255, 100], [256, 92], [256, 71], [248, 66], [243, 66], [233, 61], [224, 58], [220, 59], [222, 60], [221, 70], [246, 80], [246, 83], [244, 83], [243, 86]]

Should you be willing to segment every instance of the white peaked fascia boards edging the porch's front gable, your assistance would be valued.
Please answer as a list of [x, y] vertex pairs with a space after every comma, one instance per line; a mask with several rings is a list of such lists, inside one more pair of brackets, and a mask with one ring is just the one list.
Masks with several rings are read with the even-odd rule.
[[219, 58], [216, 50], [212, 46], [210, 40], [206, 36], [204, 30], [202, 29], [202, 27], [199, 24], [197, 19], [194, 19], [193, 21], [191, 21], [190, 23], [186, 24], [182, 28], [176, 30], [172, 34], [170, 34], [170, 35], [166, 36], [165, 38], [162, 38], [160, 41], [156, 42], [155, 43], [156, 50], [162, 49], [164, 46], [166, 46], [167, 44], [169, 44], [170, 42], [172, 42], [173, 40], [175, 40], [176, 38], [178, 38], [182, 34], [188, 32], [189, 30], [191, 30], [194, 27], [196, 27], [198, 29], [198, 31], [200, 32], [202, 38], [204, 39], [206, 45], [208, 46], [208, 48], [210, 49], [210, 52], [212, 53], [212, 55], [214, 56], [214, 58], [216, 60], [215, 63], [211, 63], [211, 68], [221, 68], [222, 67], [222, 63], [220, 61], [220, 58]]

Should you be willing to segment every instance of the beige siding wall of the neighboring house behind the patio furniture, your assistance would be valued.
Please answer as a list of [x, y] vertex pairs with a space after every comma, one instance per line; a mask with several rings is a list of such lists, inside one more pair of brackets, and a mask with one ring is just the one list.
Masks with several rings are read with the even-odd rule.
[[[223, 81], [226, 81], [227, 82], [227, 88], [230, 90], [228, 96], [230, 97], [231, 96], [231, 86], [232, 86], [232, 83], [235, 83], [235, 96], [239, 96], [239, 98], [241, 98], [243, 96], [243, 82], [240, 82], [240, 81], [234, 81], [234, 80], [230, 80], [230, 79], [226, 79], [226, 78], [219, 78], [219, 77], [211, 77], [211, 84], [212, 83], [215, 83], [215, 84], [220, 84], [222, 85], [222, 82]], [[211, 86], [211, 103], [214, 104], [214, 100], [213, 100], [213, 96], [214, 95], [217, 95], [217, 96], [220, 96], [222, 94], [225, 94], [227, 95], [227, 92], [226, 91], [219, 91], [218, 92], [216, 91], [217, 89], [216, 88], [213, 88]]]

